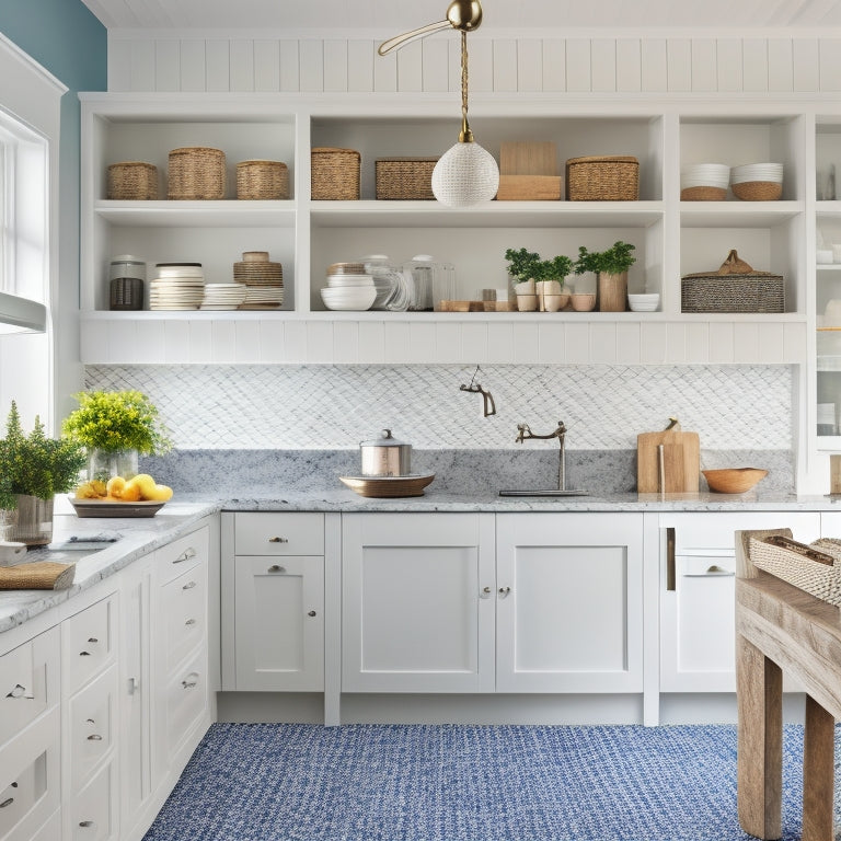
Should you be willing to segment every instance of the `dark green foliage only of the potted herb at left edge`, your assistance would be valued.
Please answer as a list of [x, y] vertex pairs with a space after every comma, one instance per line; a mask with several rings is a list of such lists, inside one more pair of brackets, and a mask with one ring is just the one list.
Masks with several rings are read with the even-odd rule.
[[18, 494], [51, 499], [70, 491], [84, 463], [83, 448], [66, 437], [47, 438], [37, 415], [33, 430], [26, 435], [12, 401], [5, 438], [0, 440], [0, 508], [16, 508]]

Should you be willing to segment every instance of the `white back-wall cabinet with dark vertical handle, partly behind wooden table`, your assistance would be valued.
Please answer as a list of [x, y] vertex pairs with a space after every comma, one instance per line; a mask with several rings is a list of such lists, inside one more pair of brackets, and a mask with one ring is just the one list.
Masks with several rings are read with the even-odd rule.
[[820, 519], [803, 511], [660, 515], [661, 692], [736, 691], [734, 534], [790, 528], [809, 542]]

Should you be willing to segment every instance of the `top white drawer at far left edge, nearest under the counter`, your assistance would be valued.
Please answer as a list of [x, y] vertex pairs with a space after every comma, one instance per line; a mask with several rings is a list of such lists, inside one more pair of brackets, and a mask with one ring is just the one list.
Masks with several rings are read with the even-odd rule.
[[0, 746], [58, 701], [58, 627], [0, 657]]

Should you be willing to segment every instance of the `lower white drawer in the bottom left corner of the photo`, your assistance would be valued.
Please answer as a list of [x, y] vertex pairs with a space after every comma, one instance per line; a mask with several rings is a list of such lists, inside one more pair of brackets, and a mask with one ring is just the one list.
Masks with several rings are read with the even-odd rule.
[[2, 841], [28, 841], [59, 807], [59, 721], [56, 707], [0, 750]]

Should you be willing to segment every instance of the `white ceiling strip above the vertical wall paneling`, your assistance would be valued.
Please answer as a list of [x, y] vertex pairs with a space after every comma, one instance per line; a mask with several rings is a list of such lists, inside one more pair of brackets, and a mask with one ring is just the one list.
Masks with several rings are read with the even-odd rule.
[[[367, 30], [443, 20], [448, 0], [83, 0], [110, 30]], [[483, 30], [825, 30], [841, 0], [485, 0]]]

